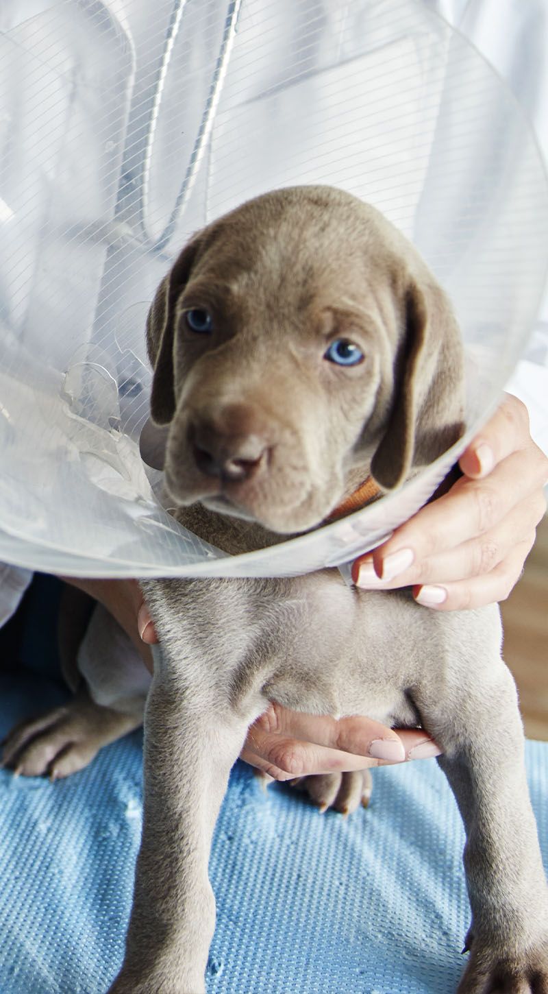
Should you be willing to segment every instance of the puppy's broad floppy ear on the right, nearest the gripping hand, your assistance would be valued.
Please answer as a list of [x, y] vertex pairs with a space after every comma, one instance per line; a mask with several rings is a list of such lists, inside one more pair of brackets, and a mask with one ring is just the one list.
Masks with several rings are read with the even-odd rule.
[[463, 345], [447, 295], [435, 283], [412, 282], [394, 366], [392, 407], [371, 460], [384, 490], [428, 465], [464, 430]]

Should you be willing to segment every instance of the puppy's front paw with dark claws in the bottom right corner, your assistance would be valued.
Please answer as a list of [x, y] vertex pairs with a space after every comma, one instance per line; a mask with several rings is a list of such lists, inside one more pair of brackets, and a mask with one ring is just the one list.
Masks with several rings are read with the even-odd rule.
[[548, 941], [516, 956], [474, 941], [457, 994], [548, 994]]

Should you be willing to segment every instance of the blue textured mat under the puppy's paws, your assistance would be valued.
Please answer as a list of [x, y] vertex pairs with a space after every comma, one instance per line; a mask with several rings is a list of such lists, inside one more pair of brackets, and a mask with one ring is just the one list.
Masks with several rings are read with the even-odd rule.
[[[0, 680], [0, 734], [59, 685]], [[548, 745], [529, 743], [548, 862]], [[433, 760], [375, 771], [367, 811], [320, 815], [238, 763], [215, 833], [208, 994], [449, 994], [468, 925], [463, 830]], [[141, 741], [51, 784], [0, 771], [0, 994], [102, 994], [122, 954]]]

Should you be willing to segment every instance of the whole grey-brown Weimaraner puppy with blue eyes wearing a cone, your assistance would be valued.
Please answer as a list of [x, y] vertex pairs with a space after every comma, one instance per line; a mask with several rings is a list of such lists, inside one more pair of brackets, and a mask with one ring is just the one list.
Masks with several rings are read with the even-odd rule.
[[[463, 429], [446, 295], [386, 220], [341, 191], [277, 191], [209, 225], [158, 288], [147, 334], [174, 513], [229, 553], [320, 527], [368, 477], [391, 490]], [[548, 994], [548, 889], [497, 608], [436, 613], [406, 590], [351, 588], [335, 569], [143, 588], [161, 644], [150, 689], [99, 613], [75, 702], [7, 744], [22, 772], [65, 775], [137, 725], [147, 697], [143, 838], [111, 994], [205, 990], [211, 833], [270, 701], [435, 737], [467, 831], [471, 954], [459, 992]], [[115, 679], [101, 640], [120, 658]], [[360, 776], [342, 799], [332, 780], [309, 783], [313, 795], [355, 806]]]

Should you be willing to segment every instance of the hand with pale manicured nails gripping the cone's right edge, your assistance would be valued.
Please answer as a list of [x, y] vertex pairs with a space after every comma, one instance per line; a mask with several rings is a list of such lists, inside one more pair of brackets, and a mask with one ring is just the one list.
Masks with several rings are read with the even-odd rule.
[[437, 610], [508, 596], [546, 510], [548, 459], [530, 436], [525, 406], [506, 394], [459, 463], [464, 476], [447, 494], [353, 563], [357, 586], [413, 585], [415, 599]]

